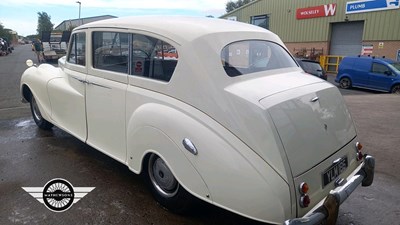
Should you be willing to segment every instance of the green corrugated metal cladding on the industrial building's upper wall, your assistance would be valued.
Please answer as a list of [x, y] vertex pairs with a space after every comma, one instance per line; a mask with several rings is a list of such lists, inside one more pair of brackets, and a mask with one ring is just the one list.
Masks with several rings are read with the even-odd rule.
[[[364, 21], [364, 41], [400, 40], [400, 9], [368, 13], [345, 14], [345, 0], [256, 0], [223, 16], [237, 16], [238, 21], [250, 23], [251, 16], [270, 16], [270, 30], [284, 42], [329, 41], [330, 24]], [[350, 2], [350, 1], [349, 1]], [[296, 9], [336, 3], [336, 15], [312, 19], [296, 19]]]

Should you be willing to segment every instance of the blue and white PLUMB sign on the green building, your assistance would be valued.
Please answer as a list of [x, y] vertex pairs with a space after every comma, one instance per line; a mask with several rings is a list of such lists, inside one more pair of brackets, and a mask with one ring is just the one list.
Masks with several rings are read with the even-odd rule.
[[400, 0], [361, 0], [346, 2], [346, 14], [399, 9]]

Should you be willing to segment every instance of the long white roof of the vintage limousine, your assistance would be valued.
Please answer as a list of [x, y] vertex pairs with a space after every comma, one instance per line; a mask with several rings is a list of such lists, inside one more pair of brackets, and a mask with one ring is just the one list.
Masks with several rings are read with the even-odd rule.
[[[189, 42], [208, 34], [236, 32], [270, 34], [268, 39], [280, 43], [280, 39], [267, 29], [247, 23], [190, 16], [132, 16], [87, 23], [75, 30], [87, 28], [122, 28], [153, 32], [176, 42]], [[75, 31], [74, 30], [74, 31]]]

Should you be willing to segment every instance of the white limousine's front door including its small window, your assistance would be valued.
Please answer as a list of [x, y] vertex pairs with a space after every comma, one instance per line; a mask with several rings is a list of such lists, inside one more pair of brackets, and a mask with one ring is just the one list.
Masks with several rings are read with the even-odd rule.
[[48, 83], [51, 118], [57, 126], [86, 140], [86, 33], [74, 33], [63, 66], [64, 77]]

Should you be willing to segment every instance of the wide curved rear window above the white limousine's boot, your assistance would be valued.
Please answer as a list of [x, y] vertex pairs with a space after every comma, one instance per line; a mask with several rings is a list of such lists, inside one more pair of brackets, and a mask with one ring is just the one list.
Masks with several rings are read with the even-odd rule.
[[260, 40], [238, 41], [225, 46], [221, 52], [221, 62], [230, 77], [298, 67], [282, 46]]

